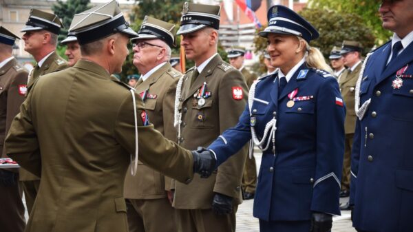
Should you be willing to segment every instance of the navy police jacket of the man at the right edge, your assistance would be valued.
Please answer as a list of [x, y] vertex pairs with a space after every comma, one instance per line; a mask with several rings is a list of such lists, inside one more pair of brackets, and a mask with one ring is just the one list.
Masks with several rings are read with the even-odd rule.
[[391, 45], [367, 59], [360, 87], [361, 104], [371, 100], [356, 123], [350, 204], [363, 231], [413, 231], [413, 43], [386, 66]]

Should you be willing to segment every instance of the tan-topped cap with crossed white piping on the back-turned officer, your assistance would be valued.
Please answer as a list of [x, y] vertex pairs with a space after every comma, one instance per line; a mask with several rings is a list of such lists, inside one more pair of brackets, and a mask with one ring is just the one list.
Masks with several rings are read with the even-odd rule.
[[69, 32], [74, 32], [80, 45], [115, 33], [123, 33], [129, 37], [138, 36], [125, 21], [115, 0], [75, 14]]

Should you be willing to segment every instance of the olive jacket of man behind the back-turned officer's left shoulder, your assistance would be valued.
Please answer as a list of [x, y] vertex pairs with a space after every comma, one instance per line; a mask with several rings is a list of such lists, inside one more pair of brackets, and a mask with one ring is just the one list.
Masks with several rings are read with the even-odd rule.
[[[67, 62], [59, 56], [56, 51], [54, 51], [41, 65], [39, 70], [36, 70], [36, 67], [32, 69], [32, 71], [29, 74], [28, 78], [28, 92], [30, 92], [30, 89], [32, 88], [32, 85], [34, 81], [36, 81], [39, 76], [43, 76], [44, 74], [49, 74], [51, 72], [56, 72], [59, 70], [64, 70], [65, 68], [69, 67], [67, 65]], [[56, 85], [56, 88], [59, 89], [60, 85]], [[39, 180], [38, 176], [34, 176], [32, 173], [29, 171], [23, 169], [20, 169], [20, 177], [19, 180], [21, 181], [26, 181], [26, 180]]]

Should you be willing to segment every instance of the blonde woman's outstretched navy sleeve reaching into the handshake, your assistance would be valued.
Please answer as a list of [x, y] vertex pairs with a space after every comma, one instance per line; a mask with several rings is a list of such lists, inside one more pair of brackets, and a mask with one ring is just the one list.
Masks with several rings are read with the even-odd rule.
[[240, 151], [251, 139], [250, 116], [248, 104], [242, 112], [237, 125], [226, 129], [207, 149], [213, 151], [217, 157], [217, 167], [233, 154]]

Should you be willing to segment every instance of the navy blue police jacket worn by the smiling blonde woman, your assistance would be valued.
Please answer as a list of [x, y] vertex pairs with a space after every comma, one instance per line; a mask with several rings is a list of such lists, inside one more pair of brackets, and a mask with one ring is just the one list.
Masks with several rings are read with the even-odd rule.
[[[297, 97], [310, 99], [287, 107], [295, 89]], [[251, 125], [262, 139], [266, 123], [276, 118], [275, 152], [272, 143], [263, 151], [253, 215], [266, 221], [310, 220], [311, 211], [339, 215], [345, 114], [335, 78], [304, 63], [279, 97], [277, 73], [260, 78], [251, 114], [247, 105], [237, 125], [208, 149], [220, 165], [251, 139]]]

